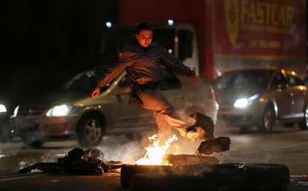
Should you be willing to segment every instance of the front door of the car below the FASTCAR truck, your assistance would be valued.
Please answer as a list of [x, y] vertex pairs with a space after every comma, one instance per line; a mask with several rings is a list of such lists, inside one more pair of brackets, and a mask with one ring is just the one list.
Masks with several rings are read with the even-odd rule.
[[[272, 95], [270, 99], [274, 99], [277, 106], [277, 117], [278, 119], [284, 119], [292, 115], [292, 91], [288, 88], [287, 79], [285, 75], [279, 71], [273, 74], [273, 78], [270, 84]], [[272, 98], [271, 98], [272, 97]]]

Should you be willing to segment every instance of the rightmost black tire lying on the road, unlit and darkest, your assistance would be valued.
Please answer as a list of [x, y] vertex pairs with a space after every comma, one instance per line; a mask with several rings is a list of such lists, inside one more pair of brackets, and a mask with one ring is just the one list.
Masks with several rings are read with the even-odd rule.
[[[233, 163], [234, 164], [234, 163]], [[281, 164], [246, 164], [248, 190], [287, 190], [289, 186], [289, 168]]]

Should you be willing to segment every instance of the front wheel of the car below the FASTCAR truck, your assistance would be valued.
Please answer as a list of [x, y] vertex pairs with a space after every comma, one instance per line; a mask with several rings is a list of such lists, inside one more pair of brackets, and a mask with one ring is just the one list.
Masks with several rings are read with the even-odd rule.
[[273, 106], [267, 105], [263, 112], [262, 123], [257, 126], [259, 132], [271, 131], [275, 124], [275, 110]]

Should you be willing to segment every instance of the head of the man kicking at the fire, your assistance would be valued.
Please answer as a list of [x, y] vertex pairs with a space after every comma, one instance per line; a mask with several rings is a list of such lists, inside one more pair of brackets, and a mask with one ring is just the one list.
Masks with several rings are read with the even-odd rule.
[[142, 47], [148, 47], [151, 45], [153, 38], [153, 28], [148, 23], [141, 23], [137, 26], [136, 30], [137, 41]]

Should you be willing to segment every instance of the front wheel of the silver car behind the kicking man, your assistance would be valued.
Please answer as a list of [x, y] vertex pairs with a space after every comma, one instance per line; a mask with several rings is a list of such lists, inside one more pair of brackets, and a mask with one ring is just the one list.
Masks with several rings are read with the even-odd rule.
[[84, 115], [77, 127], [77, 142], [80, 146], [98, 146], [104, 133], [104, 122], [99, 115]]

